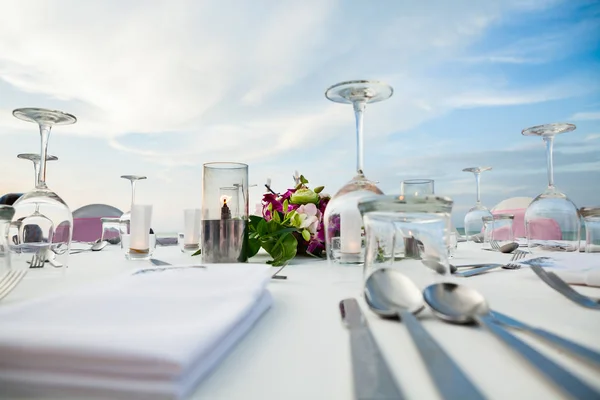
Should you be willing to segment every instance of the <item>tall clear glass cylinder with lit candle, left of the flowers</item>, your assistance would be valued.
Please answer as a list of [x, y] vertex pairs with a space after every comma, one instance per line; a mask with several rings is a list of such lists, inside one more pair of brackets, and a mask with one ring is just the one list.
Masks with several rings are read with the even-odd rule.
[[248, 261], [248, 165], [204, 164], [201, 231], [204, 262]]

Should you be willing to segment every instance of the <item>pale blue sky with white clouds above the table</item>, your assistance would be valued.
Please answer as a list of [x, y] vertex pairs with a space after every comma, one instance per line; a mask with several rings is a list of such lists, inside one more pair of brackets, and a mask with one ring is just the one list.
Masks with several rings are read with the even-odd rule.
[[12, 110], [77, 116], [53, 129], [48, 186], [72, 210], [129, 209], [124, 174], [146, 175], [137, 201], [157, 231], [201, 206], [202, 164], [250, 166], [250, 209], [264, 183], [300, 171], [335, 192], [354, 174], [350, 105], [338, 82], [375, 79], [394, 95], [367, 106], [365, 174], [387, 194], [432, 178], [462, 226], [488, 207], [547, 185], [541, 138], [521, 130], [571, 122], [555, 141], [556, 185], [600, 205], [600, 2], [8, 1], [0, 0], [0, 195], [33, 187], [18, 153], [39, 134]]

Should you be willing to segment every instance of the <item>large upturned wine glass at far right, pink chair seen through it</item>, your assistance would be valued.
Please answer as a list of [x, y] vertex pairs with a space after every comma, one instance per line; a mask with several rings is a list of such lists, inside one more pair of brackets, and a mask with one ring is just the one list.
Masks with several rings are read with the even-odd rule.
[[554, 186], [554, 137], [575, 130], [575, 125], [554, 123], [524, 129], [524, 136], [541, 136], [546, 144], [548, 187], [525, 211], [525, 232], [530, 251], [578, 251], [581, 220], [575, 204]]

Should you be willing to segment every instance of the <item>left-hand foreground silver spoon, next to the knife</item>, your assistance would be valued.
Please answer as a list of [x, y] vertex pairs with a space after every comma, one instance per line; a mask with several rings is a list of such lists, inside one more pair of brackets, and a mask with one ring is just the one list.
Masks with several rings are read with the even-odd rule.
[[413, 281], [399, 271], [378, 269], [365, 283], [365, 300], [380, 317], [400, 318], [404, 322], [442, 398], [485, 399], [415, 317], [425, 305]]

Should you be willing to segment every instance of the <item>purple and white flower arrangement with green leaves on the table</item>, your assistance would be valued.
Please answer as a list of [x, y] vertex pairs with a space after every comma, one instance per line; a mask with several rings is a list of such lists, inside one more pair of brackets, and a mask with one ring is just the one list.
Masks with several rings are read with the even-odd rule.
[[296, 254], [325, 256], [323, 215], [330, 196], [321, 193], [323, 186], [310, 189], [303, 175], [294, 179], [296, 186], [284, 194], [265, 185], [262, 216], [250, 216], [248, 257], [261, 247], [273, 257], [267, 261], [273, 266], [286, 265]]

